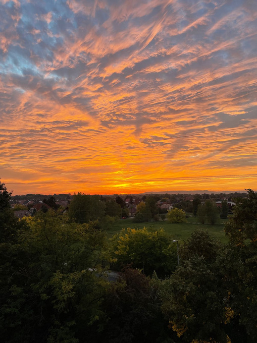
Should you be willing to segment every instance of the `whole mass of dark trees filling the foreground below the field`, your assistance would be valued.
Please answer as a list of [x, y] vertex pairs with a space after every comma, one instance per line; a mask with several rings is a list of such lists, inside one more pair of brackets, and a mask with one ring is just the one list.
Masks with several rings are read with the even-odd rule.
[[[107, 244], [92, 220], [115, 221], [106, 212], [113, 203], [121, 208], [107, 203], [110, 198], [78, 193], [70, 217], [50, 210], [22, 220], [9, 200], [0, 184], [2, 342], [257, 342], [257, 195], [251, 189], [225, 225], [229, 243], [193, 231], [180, 242], [179, 266], [176, 244], [163, 229], [124, 229]], [[104, 274], [109, 263], [119, 271], [115, 283]]]

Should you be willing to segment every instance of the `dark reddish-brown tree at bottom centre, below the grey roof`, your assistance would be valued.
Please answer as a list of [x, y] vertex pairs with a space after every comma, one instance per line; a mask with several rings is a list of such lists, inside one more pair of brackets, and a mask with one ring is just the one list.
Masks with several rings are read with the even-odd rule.
[[120, 273], [103, 301], [108, 320], [102, 320], [99, 342], [163, 342], [163, 337], [168, 337], [168, 323], [161, 315], [156, 285], [137, 269]]

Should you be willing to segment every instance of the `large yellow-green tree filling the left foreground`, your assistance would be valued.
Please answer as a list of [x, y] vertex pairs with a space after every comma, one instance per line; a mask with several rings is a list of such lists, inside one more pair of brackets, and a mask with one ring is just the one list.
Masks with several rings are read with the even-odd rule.
[[101, 312], [104, 233], [51, 210], [26, 222], [0, 293], [1, 339], [78, 342]]

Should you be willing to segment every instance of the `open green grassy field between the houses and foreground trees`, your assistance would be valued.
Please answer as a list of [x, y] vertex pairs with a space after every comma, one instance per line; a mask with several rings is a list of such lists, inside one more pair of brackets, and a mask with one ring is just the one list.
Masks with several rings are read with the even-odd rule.
[[144, 227], [159, 229], [163, 228], [167, 233], [169, 233], [172, 239], [186, 240], [195, 229], [208, 230], [209, 234], [213, 238], [219, 239], [222, 243], [227, 243], [228, 238], [225, 236], [223, 231], [224, 222], [227, 220], [220, 220], [220, 224], [215, 225], [203, 225], [197, 223], [196, 217], [187, 218], [188, 223], [181, 224], [170, 224], [167, 221], [159, 222], [148, 222], [148, 223], [133, 223], [132, 218], [120, 219], [114, 223], [112, 229], [106, 231], [107, 237], [110, 238], [115, 233], [119, 232], [121, 229], [142, 229]]

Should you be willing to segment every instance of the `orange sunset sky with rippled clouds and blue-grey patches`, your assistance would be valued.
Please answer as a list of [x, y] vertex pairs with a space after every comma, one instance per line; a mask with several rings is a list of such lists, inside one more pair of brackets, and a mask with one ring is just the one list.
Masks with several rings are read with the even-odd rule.
[[0, 0], [13, 194], [257, 190], [256, 0]]

